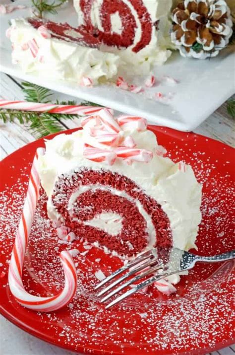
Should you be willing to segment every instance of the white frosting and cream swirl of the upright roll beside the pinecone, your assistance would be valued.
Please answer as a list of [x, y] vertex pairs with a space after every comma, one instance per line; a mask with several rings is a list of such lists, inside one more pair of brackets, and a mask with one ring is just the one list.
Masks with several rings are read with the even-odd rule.
[[[111, 51], [117, 54], [123, 61], [123, 69], [129, 73], [148, 73], [152, 65], [162, 65], [167, 61], [171, 55], [171, 51], [168, 48], [172, 47], [170, 41], [170, 26], [171, 23], [168, 20], [168, 15], [172, 6], [172, 0], [142, 0], [144, 6], [147, 8], [148, 13], [151, 16], [152, 26], [152, 38], [150, 43], [140, 50], [138, 53], [134, 53], [132, 48], [138, 43], [141, 38], [141, 24], [138, 14], [129, 0], [122, 0], [130, 9], [135, 18], [137, 27], [135, 29], [134, 43], [127, 49], [117, 49], [115, 47], [104, 46], [104, 51]], [[104, 31], [101, 24], [100, 8], [103, 0], [93, 0], [91, 20], [92, 24], [99, 30]], [[74, 6], [78, 12], [78, 22], [84, 23], [83, 14], [80, 8], [80, 1], [74, 0]], [[159, 30], [157, 31], [154, 23], [159, 21]], [[114, 32], [121, 33], [120, 25], [121, 20], [117, 13], [111, 15], [112, 29]]]

